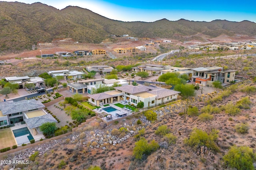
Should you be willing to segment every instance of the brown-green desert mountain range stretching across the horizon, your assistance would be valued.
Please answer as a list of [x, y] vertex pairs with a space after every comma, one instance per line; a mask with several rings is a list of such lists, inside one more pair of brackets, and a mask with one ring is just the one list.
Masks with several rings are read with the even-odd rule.
[[[54, 38], [72, 38], [84, 43], [101, 43], [109, 35], [128, 34], [133, 37], [177, 39], [202, 33], [210, 37], [221, 34], [256, 36], [252, 21], [213, 20], [189, 21], [166, 18], [154, 22], [118, 21], [78, 6], [58, 10], [36, 2], [0, 2], [0, 53], [31, 49], [38, 41], [51, 42]], [[189, 39], [188, 39], [189, 40]]]

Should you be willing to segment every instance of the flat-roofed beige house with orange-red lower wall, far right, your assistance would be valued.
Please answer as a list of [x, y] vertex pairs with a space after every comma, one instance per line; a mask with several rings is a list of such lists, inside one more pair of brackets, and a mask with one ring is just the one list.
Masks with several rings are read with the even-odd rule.
[[222, 71], [223, 68], [217, 66], [198, 67], [191, 70], [193, 70], [192, 81], [202, 86], [211, 85], [216, 80], [227, 84], [235, 80], [236, 70]]

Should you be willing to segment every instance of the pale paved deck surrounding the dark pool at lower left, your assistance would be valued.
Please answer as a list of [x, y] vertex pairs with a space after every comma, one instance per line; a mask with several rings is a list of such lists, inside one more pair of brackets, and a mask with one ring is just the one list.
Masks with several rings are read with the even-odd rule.
[[39, 141], [41, 138], [44, 139], [44, 135], [43, 134], [37, 134], [37, 135], [33, 135], [33, 132], [31, 129], [29, 129], [29, 127], [26, 125], [26, 124], [22, 124], [22, 125], [15, 125], [13, 127], [10, 127], [11, 130], [12, 130], [12, 135], [13, 135], [13, 138], [15, 139], [16, 141], [16, 145], [21, 145], [22, 143], [30, 143], [28, 141], [28, 135], [23, 135], [23, 136], [20, 136], [20, 137], [15, 137], [14, 136], [14, 133], [13, 133], [13, 130], [16, 130], [16, 129], [21, 129], [23, 127], [27, 127], [28, 130], [30, 131], [32, 137], [35, 139], [35, 141]]

